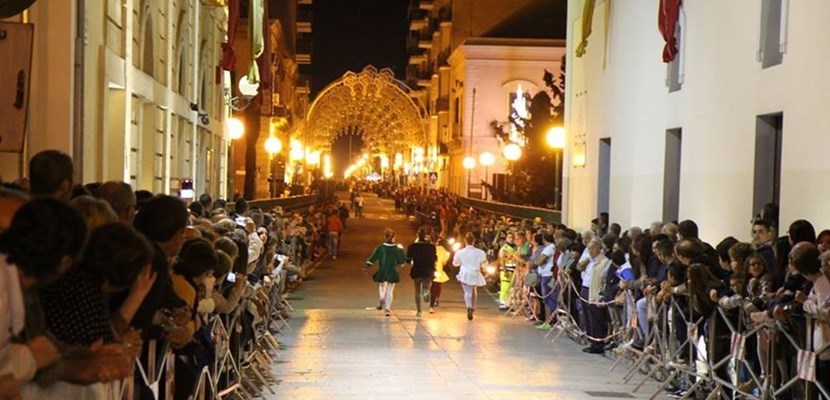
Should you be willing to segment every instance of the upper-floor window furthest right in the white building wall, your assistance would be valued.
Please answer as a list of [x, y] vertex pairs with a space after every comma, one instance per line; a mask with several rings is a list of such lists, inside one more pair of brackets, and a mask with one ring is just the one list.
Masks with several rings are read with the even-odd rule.
[[762, 0], [758, 61], [769, 68], [784, 60], [787, 50], [787, 14], [789, 0]]

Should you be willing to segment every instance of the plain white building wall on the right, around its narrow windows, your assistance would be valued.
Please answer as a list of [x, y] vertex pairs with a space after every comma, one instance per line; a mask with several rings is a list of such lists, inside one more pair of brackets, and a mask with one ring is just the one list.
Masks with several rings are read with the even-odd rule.
[[585, 227], [596, 216], [597, 151], [604, 137], [612, 139], [611, 221], [627, 227], [660, 220], [666, 130], [682, 128], [679, 218], [697, 221], [708, 241], [748, 239], [756, 211], [756, 116], [783, 112], [782, 233], [798, 218], [817, 229], [830, 226], [824, 205], [830, 188], [820, 179], [830, 144], [830, 117], [821, 109], [830, 97], [822, 73], [830, 66], [830, 48], [822, 44], [830, 3], [789, 2], [784, 61], [762, 69], [756, 61], [761, 1], [685, 2], [685, 79], [673, 93], [665, 86], [659, 1], [598, 3], [582, 58], [574, 49], [583, 2], [568, 5], [566, 125], [571, 139], [584, 131], [587, 143], [584, 168], [567, 158], [570, 225]]

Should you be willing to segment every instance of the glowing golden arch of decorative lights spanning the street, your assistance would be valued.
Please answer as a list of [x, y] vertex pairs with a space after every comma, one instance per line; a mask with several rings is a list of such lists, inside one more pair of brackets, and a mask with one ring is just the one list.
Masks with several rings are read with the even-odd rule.
[[395, 154], [426, 144], [423, 107], [392, 70], [367, 66], [346, 72], [323, 89], [309, 107], [305, 137], [330, 150], [338, 136], [363, 135], [370, 153]]

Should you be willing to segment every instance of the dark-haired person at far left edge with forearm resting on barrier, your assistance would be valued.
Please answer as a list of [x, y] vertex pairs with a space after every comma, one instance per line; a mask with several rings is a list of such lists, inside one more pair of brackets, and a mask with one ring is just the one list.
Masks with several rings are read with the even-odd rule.
[[[0, 252], [7, 263], [3, 268], [17, 267], [20, 273], [17, 282], [7, 284], [19, 284], [21, 293], [6, 310], [12, 316], [14, 336], [11, 342], [0, 343], [0, 375], [12, 374], [26, 382], [24, 396], [37, 398], [60, 380], [80, 384], [108, 382], [122, 379], [131, 371], [132, 360], [121, 345], [69, 346], [55, 338], [46, 326], [36, 291], [55, 282], [69, 269], [85, 238], [81, 218], [66, 204], [52, 199], [32, 200], [23, 205], [0, 238]], [[23, 313], [25, 324], [20, 324]], [[29, 383], [33, 379], [39, 385]]]

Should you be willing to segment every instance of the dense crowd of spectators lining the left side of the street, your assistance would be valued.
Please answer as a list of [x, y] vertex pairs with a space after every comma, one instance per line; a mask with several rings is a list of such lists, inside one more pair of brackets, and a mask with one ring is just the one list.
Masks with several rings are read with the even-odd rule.
[[[222, 325], [239, 368], [214, 371], [213, 396], [239, 381], [257, 332], [284, 326], [285, 293], [344, 223], [332, 228], [333, 202], [287, 213], [75, 184], [58, 151], [28, 171], [0, 187], [0, 399], [121, 398], [125, 382], [134, 398], [187, 398], [226, 356]], [[174, 367], [148, 381], [170, 350]]]

